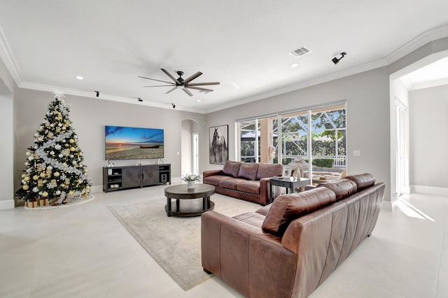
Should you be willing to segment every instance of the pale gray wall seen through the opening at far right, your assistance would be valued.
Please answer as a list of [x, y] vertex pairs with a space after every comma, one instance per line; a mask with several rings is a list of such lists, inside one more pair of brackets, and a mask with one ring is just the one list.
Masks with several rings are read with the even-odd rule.
[[448, 188], [448, 85], [409, 92], [411, 185]]

